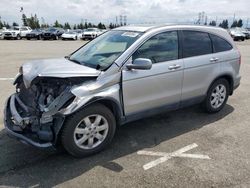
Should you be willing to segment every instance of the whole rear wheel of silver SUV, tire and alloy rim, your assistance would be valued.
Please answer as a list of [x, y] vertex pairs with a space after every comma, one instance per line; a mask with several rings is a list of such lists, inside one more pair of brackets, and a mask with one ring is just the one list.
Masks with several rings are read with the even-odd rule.
[[229, 95], [229, 83], [226, 79], [216, 80], [209, 88], [203, 107], [208, 113], [219, 112], [226, 104]]

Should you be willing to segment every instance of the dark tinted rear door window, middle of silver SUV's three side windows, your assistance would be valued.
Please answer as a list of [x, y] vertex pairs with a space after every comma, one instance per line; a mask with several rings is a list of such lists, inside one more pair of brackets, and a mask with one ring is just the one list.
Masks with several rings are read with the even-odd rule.
[[213, 52], [208, 33], [199, 31], [183, 31], [183, 57], [193, 57]]

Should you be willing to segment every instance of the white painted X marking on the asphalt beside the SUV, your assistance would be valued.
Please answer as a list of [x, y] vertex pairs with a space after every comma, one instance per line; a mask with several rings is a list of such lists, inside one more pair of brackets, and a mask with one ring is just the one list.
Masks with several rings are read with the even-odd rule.
[[185, 146], [184, 148], [181, 148], [177, 151], [174, 151], [172, 153], [165, 153], [165, 152], [154, 152], [154, 151], [138, 151], [138, 155], [149, 155], [149, 156], [159, 156], [160, 158], [151, 161], [145, 165], [143, 165], [144, 170], [148, 170], [150, 168], [155, 167], [158, 164], [161, 164], [163, 162], [166, 162], [167, 160], [173, 158], [173, 157], [184, 157], [184, 158], [193, 158], [193, 159], [210, 159], [208, 155], [201, 155], [201, 154], [188, 154], [185, 153], [186, 151], [189, 151], [191, 149], [194, 149], [198, 147], [196, 143], [190, 144], [188, 146]]

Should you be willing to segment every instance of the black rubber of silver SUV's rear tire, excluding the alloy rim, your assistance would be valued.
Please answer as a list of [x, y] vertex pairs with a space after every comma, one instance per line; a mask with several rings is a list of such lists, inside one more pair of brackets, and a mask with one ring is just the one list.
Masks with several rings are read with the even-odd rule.
[[[221, 85], [223, 85], [225, 87], [225, 90], [226, 90], [225, 91], [226, 92], [225, 98], [224, 98], [223, 103], [219, 107], [215, 108], [211, 104], [212, 93], [217, 86], [221, 86]], [[207, 92], [207, 96], [206, 96], [204, 102], [202, 103], [202, 107], [208, 113], [219, 112], [227, 103], [228, 96], [229, 96], [229, 83], [228, 83], [228, 81], [224, 78], [218, 79], [215, 82], [213, 82], [213, 84], [210, 86], [210, 88]], [[219, 98], [219, 96], [218, 96], [218, 98]]]

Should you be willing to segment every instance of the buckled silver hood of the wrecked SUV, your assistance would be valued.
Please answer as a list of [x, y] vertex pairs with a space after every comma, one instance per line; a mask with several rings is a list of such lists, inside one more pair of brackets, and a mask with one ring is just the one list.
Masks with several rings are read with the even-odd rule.
[[23, 64], [23, 81], [28, 88], [39, 77], [97, 77], [101, 71], [79, 65], [65, 58], [34, 60]]

